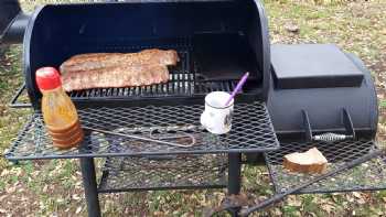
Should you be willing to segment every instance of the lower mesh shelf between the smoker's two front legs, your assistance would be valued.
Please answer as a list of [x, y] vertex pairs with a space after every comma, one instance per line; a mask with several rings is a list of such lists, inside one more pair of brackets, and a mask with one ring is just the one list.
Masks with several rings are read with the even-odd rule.
[[107, 158], [98, 191], [225, 187], [226, 170], [222, 154]]

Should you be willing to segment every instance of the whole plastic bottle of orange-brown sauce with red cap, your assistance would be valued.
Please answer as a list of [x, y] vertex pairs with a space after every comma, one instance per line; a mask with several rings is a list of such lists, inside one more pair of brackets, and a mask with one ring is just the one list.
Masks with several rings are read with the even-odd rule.
[[36, 84], [43, 94], [43, 119], [54, 147], [69, 149], [79, 145], [84, 133], [76, 108], [62, 88], [60, 73], [53, 67], [40, 68]]

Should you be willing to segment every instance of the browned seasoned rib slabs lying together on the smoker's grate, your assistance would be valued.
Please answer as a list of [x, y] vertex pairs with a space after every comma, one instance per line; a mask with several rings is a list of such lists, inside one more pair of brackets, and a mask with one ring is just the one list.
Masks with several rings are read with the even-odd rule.
[[168, 66], [178, 62], [173, 50], [79, 54], [61, 65], [62, 83], [66, 91], [160, 84], [169, 80]]

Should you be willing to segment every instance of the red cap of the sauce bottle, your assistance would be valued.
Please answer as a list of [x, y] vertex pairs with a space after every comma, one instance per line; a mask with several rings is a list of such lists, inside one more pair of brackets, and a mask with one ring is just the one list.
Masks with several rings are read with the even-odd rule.
[[55, 89], [62, 86], [61, 75], [54, 67], [43, 67], [36, 70], [36, 84], [41, 90]]

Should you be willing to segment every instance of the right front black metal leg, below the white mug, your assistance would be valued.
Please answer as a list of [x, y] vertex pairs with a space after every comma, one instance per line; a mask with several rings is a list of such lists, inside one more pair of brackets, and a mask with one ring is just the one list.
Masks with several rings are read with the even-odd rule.
[[[238, 195], [240, 193], [242, 182], [242, 154], [229, 153], [228, 154], [228, 195]], [[239, 208], [230, 209], [230, 214], [234, 217], [238, 216]]]

